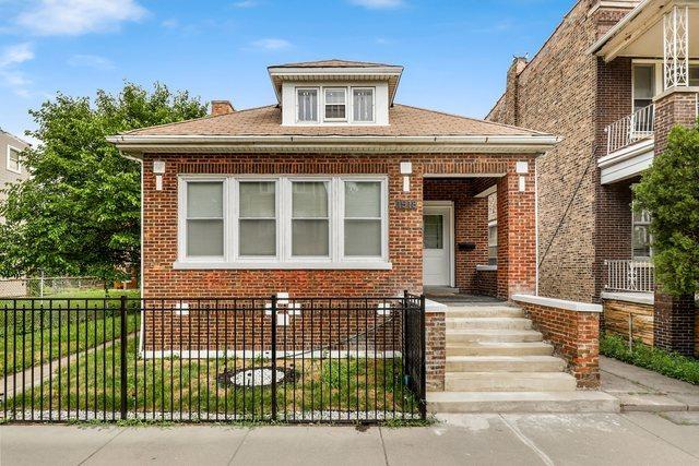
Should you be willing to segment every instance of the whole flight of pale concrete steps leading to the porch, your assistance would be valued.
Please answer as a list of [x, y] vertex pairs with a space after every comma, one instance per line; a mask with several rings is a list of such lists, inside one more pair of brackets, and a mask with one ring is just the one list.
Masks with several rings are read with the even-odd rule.
[[430, 413], [618, 413], [603, 392], [578, 391], [566, 362], [512, 306], [447, 309], [445, 392]]

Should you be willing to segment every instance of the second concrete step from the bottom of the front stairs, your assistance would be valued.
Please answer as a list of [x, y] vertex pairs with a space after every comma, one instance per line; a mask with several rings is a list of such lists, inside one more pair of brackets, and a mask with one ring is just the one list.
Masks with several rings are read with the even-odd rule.
[[576, 378], [566, 372], [446, 372], [448, 392], [569, 392]]

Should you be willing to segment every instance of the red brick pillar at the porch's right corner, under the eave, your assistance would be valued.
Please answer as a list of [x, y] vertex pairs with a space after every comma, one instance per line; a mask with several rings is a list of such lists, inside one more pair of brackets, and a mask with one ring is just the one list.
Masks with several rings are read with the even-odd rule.
[[536, 291], [536, 214], [534, 158], [522, 157], [498, 180], [497, 294]]

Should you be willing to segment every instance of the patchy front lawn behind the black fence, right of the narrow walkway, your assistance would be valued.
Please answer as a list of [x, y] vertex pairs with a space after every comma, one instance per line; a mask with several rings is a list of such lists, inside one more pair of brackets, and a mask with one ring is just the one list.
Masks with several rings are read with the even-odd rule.
[[[182, 420], [263, 420], [272, 413], [272, 390], [235, 386], [217, 381], [224, 370], [265, 368], [264, 359], [141, 359], [135, 357], [137, 338], [128, 346], [128, 409], [139, 419]], [[16, 413], [34, 404], [39, 410], [95, 411], [99, 418], [119, 418], [120, 362], [119, 344], [99, 349], [93, 355], [63, 368], [58, 378], [8, 401]], [[335, 420], [348, 419], [350, 411], [386, 411], [417, 414], [418, 403], [401, 374], [402, 361], [395, 359], [279, 359], [277, 368], [294, 370], [288, 383], [279, 383], [277, 419], [296, 416], [319, 419], [318, 411], [341, 411]], [[95, 372], [96, 369], [96, 372]], [[70, 375], [69, 375], [70, 370]], [[49, 397], [50, 391], [50, 397]], [[60, 399], [60, 402], [59, 402]], [[70, 409], [69, 409], [70, 408]], [[304, 413], [304, 415], [301, 415]], [[73, 414], [74, 416], [74, 414]], [[359, 415], [364, 416], [364, 415]], [[327, 420], [327, 419], [325, 419]]]

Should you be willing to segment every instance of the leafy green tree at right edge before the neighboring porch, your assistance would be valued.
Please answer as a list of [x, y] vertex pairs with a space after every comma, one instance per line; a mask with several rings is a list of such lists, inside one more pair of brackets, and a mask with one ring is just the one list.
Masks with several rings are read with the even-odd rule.
[[633, 188], [637, 212], [651, 213], [661, 289], [694, 295], [699, 284], [699, 128], [675, 127], [667, 148]]

